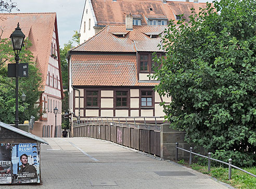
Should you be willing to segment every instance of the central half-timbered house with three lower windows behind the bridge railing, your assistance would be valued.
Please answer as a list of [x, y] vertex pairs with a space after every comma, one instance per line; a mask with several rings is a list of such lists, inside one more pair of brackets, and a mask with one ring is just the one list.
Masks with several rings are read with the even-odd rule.
[[69, 108], [80, 119], [89, 117], [163, 117], [161, 97], [153, 88], [152, 53], [164, 51], [160, 35], [167, 26], [106, 26], [69, 59]]

